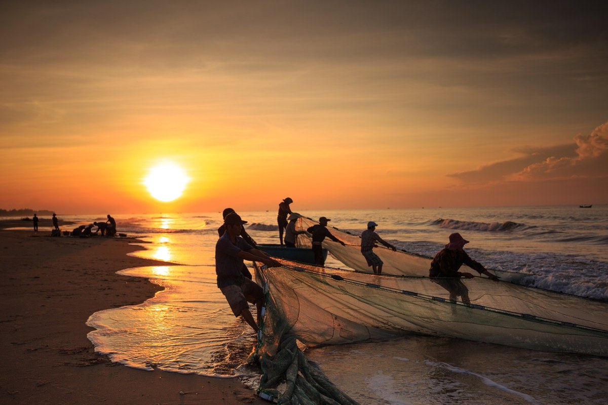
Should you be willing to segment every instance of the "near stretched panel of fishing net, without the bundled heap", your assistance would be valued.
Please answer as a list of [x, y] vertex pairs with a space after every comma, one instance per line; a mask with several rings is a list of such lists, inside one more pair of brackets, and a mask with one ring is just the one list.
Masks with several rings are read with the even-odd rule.
[[[608, 356], [608, 303], [474, 279], [378, 276], [280, 260], [259, 279], [280, 330], [303, 344], [384, 339], [406, 333], [534, 350]], [[445, 284], [452, 282], [455, 284]], [[453, 288], [470, 304], [450, 299]]]

